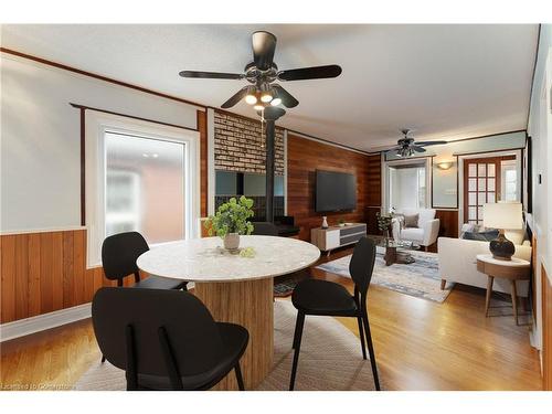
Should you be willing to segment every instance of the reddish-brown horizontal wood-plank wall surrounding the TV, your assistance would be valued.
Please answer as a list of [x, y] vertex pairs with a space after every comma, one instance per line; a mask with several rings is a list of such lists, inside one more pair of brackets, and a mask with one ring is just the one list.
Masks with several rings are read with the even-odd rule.
[[[373, 161], [378, 158], [378, 167]], [[380, 158], [341, 149], [288, 134], [287, 139], [287, 211], [300, 226], [299, 238], [309, 241], [310, 229], [328, 216], [330, 225], [340, 219], [349, 222], [367, 222], [369, 199], [376, 203], [380, 191]], [[371, 162], [372, 161], [372, 162]], [[357, 210], [350, 213], [315, 212], [316, 170], [349, 172], [357, 176]], [[378, 189], [378, 191], [375, 191]]]

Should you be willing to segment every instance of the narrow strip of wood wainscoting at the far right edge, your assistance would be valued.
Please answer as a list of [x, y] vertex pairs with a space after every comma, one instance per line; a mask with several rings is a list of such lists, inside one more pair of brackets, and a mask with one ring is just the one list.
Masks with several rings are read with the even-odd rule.
[[542, 389], [552, 391], [552, 284], [541, 266], [542, 280]]

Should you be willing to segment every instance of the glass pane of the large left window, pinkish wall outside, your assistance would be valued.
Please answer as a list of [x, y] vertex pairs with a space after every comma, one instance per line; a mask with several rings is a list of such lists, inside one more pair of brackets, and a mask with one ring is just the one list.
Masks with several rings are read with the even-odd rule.
[[105, 132], [105, 235], [184, 238], [184, 144]]

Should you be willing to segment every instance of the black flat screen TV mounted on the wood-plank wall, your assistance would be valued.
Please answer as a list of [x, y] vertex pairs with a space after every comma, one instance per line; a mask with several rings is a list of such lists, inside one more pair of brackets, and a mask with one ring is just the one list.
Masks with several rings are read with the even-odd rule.
[[357, 208], [357, 177], [335, 171], [316, 171], [315, 210], [319, 213]]

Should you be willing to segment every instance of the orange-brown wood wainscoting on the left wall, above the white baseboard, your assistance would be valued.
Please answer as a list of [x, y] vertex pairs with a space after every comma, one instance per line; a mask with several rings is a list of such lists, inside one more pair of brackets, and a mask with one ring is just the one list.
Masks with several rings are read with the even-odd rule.
[[1, 323], [86, 304], [116, 286], [102, 267], [86, 269], [86, 230], [1, 235], [0, 252]]

